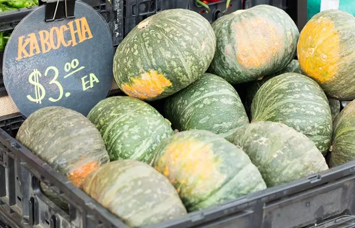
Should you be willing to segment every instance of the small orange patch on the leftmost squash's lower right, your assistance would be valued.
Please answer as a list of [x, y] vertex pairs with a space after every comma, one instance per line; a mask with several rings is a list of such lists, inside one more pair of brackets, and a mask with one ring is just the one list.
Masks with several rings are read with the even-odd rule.
[[79, 168], [70, 171], [66, 175], [66, 178], [71, 181], [75, 186], [80, 187], [81, 183], [85, 180], [87, 175], [97, 169], [97, 167], [98, 163], [96, 161], [86, 163], [80, 166]]

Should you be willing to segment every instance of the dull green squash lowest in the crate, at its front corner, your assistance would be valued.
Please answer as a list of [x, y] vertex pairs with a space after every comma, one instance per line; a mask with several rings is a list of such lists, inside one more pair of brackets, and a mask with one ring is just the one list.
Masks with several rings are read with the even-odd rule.
[[169, 180], [138, 161], [105, 164], [85, 179], [82, 189], [130, 227], [150, 225], [187, 213]]

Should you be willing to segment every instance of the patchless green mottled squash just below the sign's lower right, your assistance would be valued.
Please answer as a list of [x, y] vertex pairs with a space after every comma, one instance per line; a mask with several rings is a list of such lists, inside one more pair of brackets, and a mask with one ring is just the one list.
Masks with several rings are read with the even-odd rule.
[[131, 159], [149, 164], [160, 141], [174, 133], [156, 109], [128, 96], [101, 100], [88, 119], [100, 131], [111, 161]]

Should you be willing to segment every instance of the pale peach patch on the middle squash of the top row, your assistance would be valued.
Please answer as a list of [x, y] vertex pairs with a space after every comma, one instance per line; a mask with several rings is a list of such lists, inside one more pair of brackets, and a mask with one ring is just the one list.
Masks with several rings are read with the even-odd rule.
[[[281, 28], [279, 28], [281, 29]], [[283, 48], [283, 34], [265, 18], [254, 17], [235, 23], [237, 61], [246, 68], [264, 66]]]

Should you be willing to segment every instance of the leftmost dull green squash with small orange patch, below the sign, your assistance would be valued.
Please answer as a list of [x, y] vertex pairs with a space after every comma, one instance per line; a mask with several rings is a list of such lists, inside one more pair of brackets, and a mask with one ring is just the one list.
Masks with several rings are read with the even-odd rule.
[[[98, 166], [109, 162], [100, 132], [81, 113], [64, 107], [33, 112], [21, 125], [16, 139], [74, 185]], [[66, 201], [41, 182], [43, 193], [66, 209]]]

